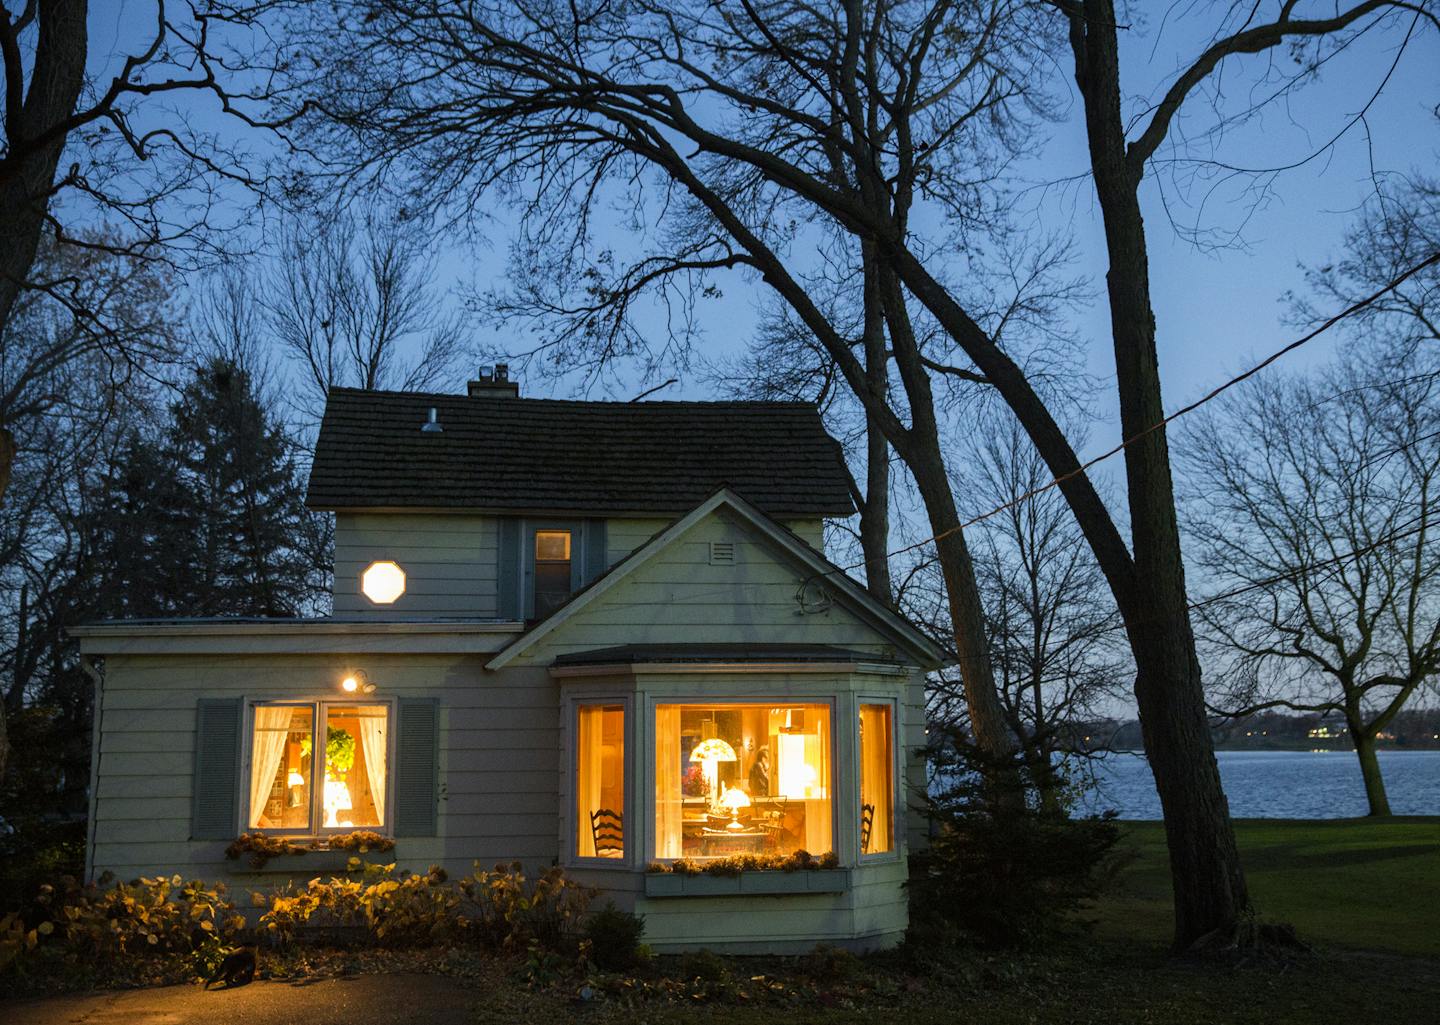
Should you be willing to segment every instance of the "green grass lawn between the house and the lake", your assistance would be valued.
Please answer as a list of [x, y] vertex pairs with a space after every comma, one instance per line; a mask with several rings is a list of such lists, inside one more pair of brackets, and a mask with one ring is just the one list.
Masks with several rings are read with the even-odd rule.
[[[1126, 825], [1136, 861], [1099, 908], [1104, 939], [1164, 943], [1169, 867], [1159, 822]], [[1236, 822], [1266, 921], [1319, 946], [1440, 956], [1440, 818]]]

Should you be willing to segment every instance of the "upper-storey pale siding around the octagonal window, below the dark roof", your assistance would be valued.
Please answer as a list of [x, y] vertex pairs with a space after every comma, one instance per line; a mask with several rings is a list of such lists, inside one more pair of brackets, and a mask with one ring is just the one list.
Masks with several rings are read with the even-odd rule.
[[[625, 559], [672, 523], [670, 518], [606, 520], [606, 567]], [[785, 524], [816, 551], [821, 520]], [[405, 570], [405, 595], [374, 605], [360, 592], [360, 574], [377, 560]], [[337, 512], [334, 612], [361, 619], [497, 618], [500, 525], [492, 515], [445, 512]]]

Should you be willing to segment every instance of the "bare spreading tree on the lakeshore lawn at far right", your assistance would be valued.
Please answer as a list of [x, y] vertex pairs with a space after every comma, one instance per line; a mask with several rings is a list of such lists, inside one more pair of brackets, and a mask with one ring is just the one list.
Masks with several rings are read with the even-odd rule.
[[1202, 619], [1231, 655], [1217, 704], [1342, 715], [1369, 813], [1390, 815], [1377, 736], [1440, 672], [1440, 360], [1358, 338], [1310, 377], [1246, 386], [1185, 448], [1218, 592]]

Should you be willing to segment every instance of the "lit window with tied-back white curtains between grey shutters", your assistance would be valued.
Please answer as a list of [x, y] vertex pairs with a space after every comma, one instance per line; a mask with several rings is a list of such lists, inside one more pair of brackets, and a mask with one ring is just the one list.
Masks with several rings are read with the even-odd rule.
[[320, 835], [390, 825], [390, 705], [253, 705], [251, 829]]

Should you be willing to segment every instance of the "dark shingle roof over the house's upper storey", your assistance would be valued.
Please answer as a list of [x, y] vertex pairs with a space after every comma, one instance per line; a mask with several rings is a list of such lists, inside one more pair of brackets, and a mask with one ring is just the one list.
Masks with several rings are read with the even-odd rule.
[[[422, 432], [429, 409], [441, 432]], [[333, 389], [314, 508], [670, 512], [730, 487], [770, 515], [852, 511], [840, 445], [798, 402], [564, 402]]]

